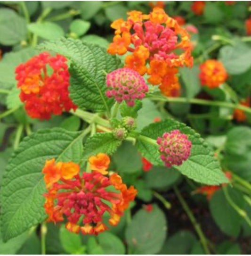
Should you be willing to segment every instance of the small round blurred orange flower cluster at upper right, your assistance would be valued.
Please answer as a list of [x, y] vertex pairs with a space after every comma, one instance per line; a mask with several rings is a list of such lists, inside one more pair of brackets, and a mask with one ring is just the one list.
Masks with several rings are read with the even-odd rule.
[[215, 59], [208, 59], [200, 66], [201, 84], [209, 88], [217, 88], [227, 80], [227, 71], [223, 64]]

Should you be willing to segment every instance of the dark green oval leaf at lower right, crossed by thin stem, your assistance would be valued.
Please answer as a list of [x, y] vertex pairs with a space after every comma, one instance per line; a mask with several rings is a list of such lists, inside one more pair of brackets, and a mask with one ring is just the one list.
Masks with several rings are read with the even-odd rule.
[[[243, 208], [242, 193], [235, 189], [228, 189], [228, 193], [235, 204]], [[242, 217], [229, 205], [223, 190], [214, 193], [209, 206], [211, 215], [220, 230], [229, 236], [237, 237], [241, 231]]]

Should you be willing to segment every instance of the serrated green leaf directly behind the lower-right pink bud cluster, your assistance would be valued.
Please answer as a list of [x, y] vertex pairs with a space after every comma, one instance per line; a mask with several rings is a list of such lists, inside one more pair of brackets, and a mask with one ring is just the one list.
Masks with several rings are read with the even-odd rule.
[[[188, 136], [188, 140], [192, 142], [191, 155], [182, 165], [175, 165], [182, 174], [196, 182], [201, 182], [209, 185], [219, 185], [227, 183], [228, 179], [221, 172], [218, 160], [214, 157], [214, 153], [208, 144], [201, 138], [199, 133], [194, 132], [190, 127], [178, 121], [168, 119], [166, 121], [150, 124], [144, 128], [141, 135], [156, 140], [162, 137], [164, 132], [172, 130], [180, 130]], [[155, 145], [141, 139], [137, 139], [136, 147], [143, 157], [146, 157], [154, 165], [163, 165], [158, 151], [159, 145]], [[168, 171], [168, 169], [167, 169]]]

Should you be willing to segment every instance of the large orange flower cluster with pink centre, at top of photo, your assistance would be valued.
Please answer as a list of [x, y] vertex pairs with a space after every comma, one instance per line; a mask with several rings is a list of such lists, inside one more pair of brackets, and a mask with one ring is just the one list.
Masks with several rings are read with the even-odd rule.
[[126, 21], [115, 20], [111, 27], [115, 36], [107, 52], [131, 52], [125, 58], [125, 67], [148, 74], [147, 81], [159, 85], [166, 96], [178, 96], [178, 67], [193, 65], [192, 43], [186, 30], [162, 8], [154, 8], [149, 15], [130, 11]]

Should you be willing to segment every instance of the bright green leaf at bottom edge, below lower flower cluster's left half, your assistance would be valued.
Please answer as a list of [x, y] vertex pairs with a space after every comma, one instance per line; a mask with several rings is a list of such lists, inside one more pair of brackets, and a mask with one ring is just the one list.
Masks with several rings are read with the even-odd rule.
[[65, 226], [60, 229], [60, 241], [66, 252], [69, 254], [84, 254], [85, 247], [82, 245], [79, 234], [68, 231]]

